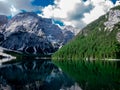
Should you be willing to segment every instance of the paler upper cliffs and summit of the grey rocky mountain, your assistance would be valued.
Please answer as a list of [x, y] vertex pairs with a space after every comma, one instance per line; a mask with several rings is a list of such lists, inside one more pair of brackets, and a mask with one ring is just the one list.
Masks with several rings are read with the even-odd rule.
[[57, 25], [52, 24], [51, 19], [41, 18], [32, 12], [20, 13], [13, 17], [8, 22], [5, 33], [8, 36], [14, 31], [22, 30], [24, 32], [35, 33], [38, 36], [51, 35], [60, 41], [63, 39], [61, 29]]

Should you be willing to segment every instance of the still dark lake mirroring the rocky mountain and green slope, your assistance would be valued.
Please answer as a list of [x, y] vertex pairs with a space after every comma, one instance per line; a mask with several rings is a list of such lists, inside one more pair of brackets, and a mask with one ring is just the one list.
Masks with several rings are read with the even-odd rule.
[[43, 56], [12, 55], [18, 58], [0, 59], [3, 90], [120, 90], [119, 60], [51, 60]]

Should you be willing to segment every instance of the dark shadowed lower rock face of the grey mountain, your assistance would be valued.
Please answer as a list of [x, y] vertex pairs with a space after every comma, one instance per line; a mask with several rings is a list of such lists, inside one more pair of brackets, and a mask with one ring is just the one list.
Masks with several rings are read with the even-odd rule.
[[[22, 37], [22, 38], [21, 38]], [[12, 33], [2, 42], [2, 47], [31, 54], [49, 54], [55, 52], [52, 44], [43, 37], [28, 32]]]

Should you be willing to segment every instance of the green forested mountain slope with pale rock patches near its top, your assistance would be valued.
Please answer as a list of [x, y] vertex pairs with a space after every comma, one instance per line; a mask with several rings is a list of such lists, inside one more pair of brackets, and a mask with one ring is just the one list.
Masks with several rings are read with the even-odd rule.
[[87, 25], [53, 58], [119, 59], [120, 58], [120, 6]]

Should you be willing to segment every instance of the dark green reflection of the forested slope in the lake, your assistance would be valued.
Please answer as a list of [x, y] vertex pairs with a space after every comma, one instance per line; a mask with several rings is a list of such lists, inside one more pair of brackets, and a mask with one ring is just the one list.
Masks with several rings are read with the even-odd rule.
[[83, 90], [120, 90], [120, 62], [54, 60]]

